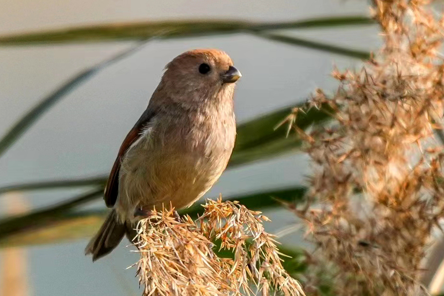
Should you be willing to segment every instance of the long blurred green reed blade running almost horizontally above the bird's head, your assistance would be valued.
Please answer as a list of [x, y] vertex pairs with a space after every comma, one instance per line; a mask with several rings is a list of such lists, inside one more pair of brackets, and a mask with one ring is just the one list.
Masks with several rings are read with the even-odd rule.
[[114, 23], [0, 36], [0, 46], [47, 43], [130, 41], [147, 38], [181, 38], [259, 32], [282, 29], [333, 28], [374, 24], [366, 16], [339, 16], [289, 22], [248, 22], [244, 20], [178, 20]]

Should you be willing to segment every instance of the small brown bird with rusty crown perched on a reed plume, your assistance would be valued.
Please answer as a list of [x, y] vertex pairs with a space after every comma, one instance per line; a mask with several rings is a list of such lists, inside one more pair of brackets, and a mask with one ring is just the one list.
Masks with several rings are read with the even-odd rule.
[[190, 206], [219, 179], [236, 138], [233, 93], [241, 76], [216, 49], [187, 51], [165, 67], [112, 167], [104, 199], [113, 209], [85, 249], [93, 261], [125, 234], [131, 240], [141, 213]]

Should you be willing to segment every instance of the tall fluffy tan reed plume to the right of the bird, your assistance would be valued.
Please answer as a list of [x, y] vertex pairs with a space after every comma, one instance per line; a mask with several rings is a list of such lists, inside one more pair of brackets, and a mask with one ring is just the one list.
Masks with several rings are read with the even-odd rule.
[[[431, 232], [444, 216], [442, 15], [425, 0], [374, 0], [384, 46], [361, 71], [334, 71], [328, 128], [304, 134], [314, 173], [295, 212], [331, 266], [333, 295], [427, 295], [419, 284]], [[295, 111], [295, 116], [298, 110]], [[329, 263], [329, 264], [327, 264]], [[319, 295], [316, 279], [304, 284]]]

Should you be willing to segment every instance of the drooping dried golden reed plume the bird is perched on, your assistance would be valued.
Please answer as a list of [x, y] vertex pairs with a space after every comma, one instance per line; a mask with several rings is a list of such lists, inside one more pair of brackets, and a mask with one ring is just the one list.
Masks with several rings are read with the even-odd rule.
[[[253, 290], [263, 296], [304, 295], [282, 267], [273, 236], [263, 229], [265, 216], [222, 200], [207, 201], [204, 208], [197, 222], [153, 211], [139, 223], [137, 265], [145, 296], [237, 296]], [[234, 258], [218, 256], [213, 242]]]

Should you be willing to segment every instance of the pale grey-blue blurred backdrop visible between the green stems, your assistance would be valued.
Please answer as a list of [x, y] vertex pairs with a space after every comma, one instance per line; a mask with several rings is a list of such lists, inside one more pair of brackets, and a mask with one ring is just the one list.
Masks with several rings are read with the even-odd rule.
[[[101, 22], [170, 18], [241, 18], [257, 21], [367, 15], [363, 0], [1, 0], [0, 34]], [[299, 30], [292, 34], [357, 49], [379, 44], [375, 26]], [[40, 98], [66, 79], [131, 42], [0, 47], [0, 135]], [[107, 68], [46, 113], [0, 158], [0, 186], [10, 183], [93, 176], [110, 170], [117, 149], [146, 108], [164, 65], [179, 53], [216, 47], [230, 54], [243, 77], [235, 108], [238, 122], [282, 106], [295, 105], [316, 87], [333, 91], [333, 65], [360, 67], [358, 60], [276, 43], [248, 35], [152, 41], [143, 50]], [[261, 161], [225, 172], [206, 197], [302, 184], [308, 173], [302, 154]], [[78, 190], [27, 194], [33, 206], [53, 204]], [[101, 201], [95, 208], [105, 208]], [[266, 212], [278, 231], [296, 222], [285, 211]], [[300, 243], [291, 234], [284, 242]], [[36, 296], [140, 295], [137, 256], [122, 243], [105, 259], [83, 256], [86, 240], [30, 247], [29, 276]]]

